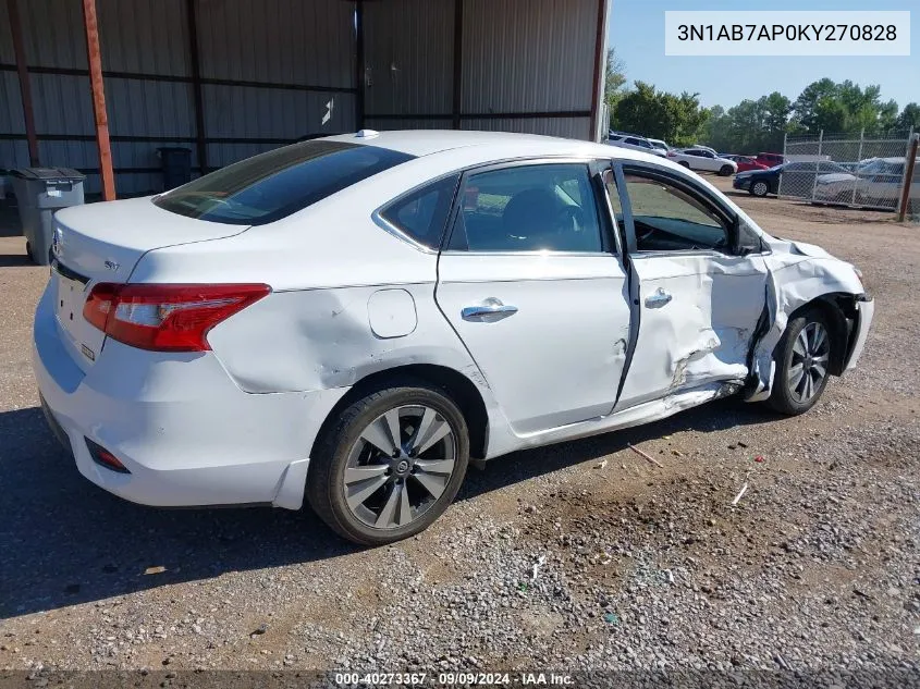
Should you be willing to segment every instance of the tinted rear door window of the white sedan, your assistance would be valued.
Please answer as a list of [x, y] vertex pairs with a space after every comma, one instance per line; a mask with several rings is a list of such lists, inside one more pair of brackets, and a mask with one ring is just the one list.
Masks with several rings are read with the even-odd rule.
[[586, 164], [516, 165], [473, 174], [459, 205], [451, 250], [603, 250]]

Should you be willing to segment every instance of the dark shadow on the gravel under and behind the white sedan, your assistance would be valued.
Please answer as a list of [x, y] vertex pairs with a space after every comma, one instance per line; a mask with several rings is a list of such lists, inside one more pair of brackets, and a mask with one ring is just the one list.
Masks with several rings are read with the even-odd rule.
[[[592, 460], [628, 443], [774, 418], [723, 401], [635, 429], [517, 452], [483, 470], [471, 469], [458, 500]], [[160, 509], [110, 495], [79, 476], [37, 407], [0, 414], [0, 619], [359, 550], [309, 509]], [[165, 570], [146, 575], [148, 567]]]

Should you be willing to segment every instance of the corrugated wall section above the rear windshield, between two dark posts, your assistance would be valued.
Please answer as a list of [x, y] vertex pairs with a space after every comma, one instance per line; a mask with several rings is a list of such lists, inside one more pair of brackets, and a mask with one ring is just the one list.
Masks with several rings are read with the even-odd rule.
[[199, 0], [201, 77], [214, 82], [205, 122], [220, 139], [210, 167], [355, 130], [354, 12], [343, 0]]

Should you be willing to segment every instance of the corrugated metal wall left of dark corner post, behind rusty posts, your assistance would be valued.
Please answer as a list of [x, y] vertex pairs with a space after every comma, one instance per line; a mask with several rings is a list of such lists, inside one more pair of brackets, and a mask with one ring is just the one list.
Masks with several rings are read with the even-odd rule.
[[[20, 168], [28, 165], [28, 148], [5, 2], [0, 0], [0, 168]], [[159, 147], [188, 148], [195, 174], [200, 168], [189, 2], [209, 168], [355, 128], [354, 2], [97, 0], [119, 196], [162, 188]], [[93, 194], [100, 190], [99, 161], [81, 5], [19, 2], [41, 163], [83, 170]]]

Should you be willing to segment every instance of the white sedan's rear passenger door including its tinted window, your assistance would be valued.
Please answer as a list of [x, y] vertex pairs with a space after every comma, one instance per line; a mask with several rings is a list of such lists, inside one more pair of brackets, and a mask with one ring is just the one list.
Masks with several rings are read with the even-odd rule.
[[599, 170], [551, 160], [469, 171], [456, 206], [436, 298], [514, 431], [609, 414], [630, 307]]

